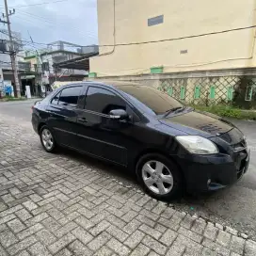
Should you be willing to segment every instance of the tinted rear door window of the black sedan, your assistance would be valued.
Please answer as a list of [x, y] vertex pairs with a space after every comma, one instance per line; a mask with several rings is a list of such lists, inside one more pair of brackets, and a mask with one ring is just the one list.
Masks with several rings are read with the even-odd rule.
[[76, 106], [81, 87], [64, 88], [61, 91], [58, 104]]

